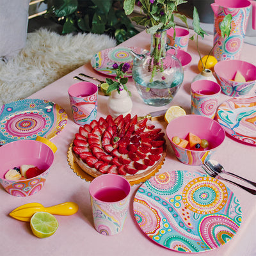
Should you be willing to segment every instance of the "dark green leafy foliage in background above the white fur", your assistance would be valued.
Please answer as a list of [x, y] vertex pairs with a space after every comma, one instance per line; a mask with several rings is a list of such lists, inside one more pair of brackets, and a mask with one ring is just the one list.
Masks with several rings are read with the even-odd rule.
[[136, 35], [131, 20], [125, 15], [123, 0], [45, 0], [46, 17], [63, 25], [63, 34], [85, 32], [107, 33], [117, 44]]

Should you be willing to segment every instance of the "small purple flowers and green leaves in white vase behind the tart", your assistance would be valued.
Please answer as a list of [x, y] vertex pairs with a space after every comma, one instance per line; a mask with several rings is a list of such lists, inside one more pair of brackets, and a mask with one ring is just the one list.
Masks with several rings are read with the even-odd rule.
[[117, 92], [120, 93], [122, 90], [125, 90], [129, 93], [129, 96], [131, 97], [131, 92], [128, 90], [126, 86], [128, 82], [128, 77], [124, 77], [130, 68], [130, 64], [125, 62], [125, 63], [121, 63], [118, 66], [117, 63], [114, 63], [112, 67], [113, 68], [109, 68], [109, 69], [116, 71], [115, 79], [117, 81], [113, 81], [110, 78], [106, 78], [106, 82], [109, 85], [107, 93], [111, 93], [114, 90], [117, 90]]

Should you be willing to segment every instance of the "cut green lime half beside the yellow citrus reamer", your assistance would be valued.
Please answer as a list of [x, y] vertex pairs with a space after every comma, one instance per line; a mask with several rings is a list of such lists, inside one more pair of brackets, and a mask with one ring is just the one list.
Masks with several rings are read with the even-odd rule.
[[49, 212], [36, 212], [31, 217], [30, 227], [35, 236], [44, 238], [52, 236], [59, 227], [59, 223]]

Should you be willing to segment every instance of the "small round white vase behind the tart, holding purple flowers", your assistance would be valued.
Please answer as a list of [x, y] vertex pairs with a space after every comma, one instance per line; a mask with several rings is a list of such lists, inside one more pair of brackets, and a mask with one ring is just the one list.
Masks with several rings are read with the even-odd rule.
[[132, 100], [129, 94], [122, 90], [120, 93], [117, 90], [111, 92], [108, 99], [108, 111], [111, 116], [117, 117], [119, 115], [127, 115], [131, 113]]

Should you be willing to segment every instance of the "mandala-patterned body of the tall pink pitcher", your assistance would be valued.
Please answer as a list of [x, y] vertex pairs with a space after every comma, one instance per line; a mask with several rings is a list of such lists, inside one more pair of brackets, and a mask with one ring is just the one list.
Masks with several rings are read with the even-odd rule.
[[[226, 8], [219, 6], [214, 15], [214, 56], [220, 60], [238, 60], [243, 46], [244, 35], [250, 15], [250, 6], [246, 8]], [[232, 15], [230, 36], [223, 39], [220, 31], [220, 24], [230, 13]]]

